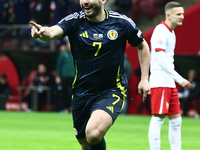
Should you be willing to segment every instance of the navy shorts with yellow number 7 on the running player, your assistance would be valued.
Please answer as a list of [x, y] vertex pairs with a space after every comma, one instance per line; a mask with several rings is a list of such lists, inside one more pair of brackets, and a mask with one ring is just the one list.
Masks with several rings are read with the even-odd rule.
[[107, 112], [113, 119], [113, 123], [122, 111], [126, 93], [111, 90], [105, 93], [78, 97], [72, 100], [72, 115], [74, 132], [77, 139], [85, 138], [85, 128], [93, 111], [100, 109]]

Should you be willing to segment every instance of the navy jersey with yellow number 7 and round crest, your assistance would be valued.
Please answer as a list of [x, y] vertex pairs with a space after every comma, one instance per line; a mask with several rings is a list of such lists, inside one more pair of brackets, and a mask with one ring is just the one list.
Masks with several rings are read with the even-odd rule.
[[98, 23], [88, 21], [80, 11], [57, 24], [63, 29], [63, 36], [69, 36], [74, 57], [72, 94], [93, 95], [110, 89], [123, 92], [127, 86], [123, 67], [126, 42], [137, 46], [143, 36], [130, 18], [110, 10], [105, 12], [106, 19]]

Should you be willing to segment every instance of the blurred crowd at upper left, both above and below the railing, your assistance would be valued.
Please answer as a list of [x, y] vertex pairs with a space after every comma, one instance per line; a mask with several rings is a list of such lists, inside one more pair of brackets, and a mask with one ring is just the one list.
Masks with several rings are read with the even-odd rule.
[[[80, 11], [79, 0], [0, 0], [0, 47], [2, 50], [59, 51], [64, 40], [51, 43], [32, 39], [29, 21], [41, 25], [54, 25], [66, 15]], [[7, 25], [15, 25], [5, 30]]]

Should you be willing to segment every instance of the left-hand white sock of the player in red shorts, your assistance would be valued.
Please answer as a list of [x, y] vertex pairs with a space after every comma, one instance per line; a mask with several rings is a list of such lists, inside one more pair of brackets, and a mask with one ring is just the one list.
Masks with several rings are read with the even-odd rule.
[[150, 150], [160, 150], [160, 133], [163, 122], [164, 118], [151, 118], [148, 133]]

